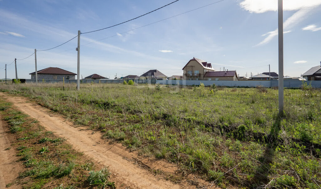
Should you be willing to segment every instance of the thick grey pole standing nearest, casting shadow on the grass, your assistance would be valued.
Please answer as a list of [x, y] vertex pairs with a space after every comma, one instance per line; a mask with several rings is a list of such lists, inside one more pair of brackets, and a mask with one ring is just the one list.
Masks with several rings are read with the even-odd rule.
[[279, 115], [283, 114], [283, 2], [278, 0], [278, 32], [279, 32]]

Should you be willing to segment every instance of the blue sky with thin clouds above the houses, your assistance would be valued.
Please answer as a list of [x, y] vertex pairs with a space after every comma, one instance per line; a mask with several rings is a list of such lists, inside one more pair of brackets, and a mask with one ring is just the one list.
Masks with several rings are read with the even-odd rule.
[[[105, 28], [172, 1], [0, 0], [0, 68], [29, 56], [35, 48], [64, 43], [78, 30]], [[268, 72], [268, 64], [271, 72], [278, 72], [277, 0], [224, 0], [160, 21], [216, 1], [179, 0], [134, 21], [82, 34], [81, 75], [113, 78], [116, 73], [141, 75], [150, 69], [182, 75], [193, 57], [212, 63], [217, 71], [236, 70], [240, 76]], [[321, 0], [283, 0], [283, 4], [284, 75], [299, 76], [321, 61]], [[142, 27], [155, 21], [160, 22]], [[77, 73], [75, 47], [77, 38], [37, 52], [38, 70], [60, 67]], [[34, 56], [17, 60], [17, 69], [19, 78], [30, 78]], [[15, 77], [14, 64], [7, 66], [7, 77]]]

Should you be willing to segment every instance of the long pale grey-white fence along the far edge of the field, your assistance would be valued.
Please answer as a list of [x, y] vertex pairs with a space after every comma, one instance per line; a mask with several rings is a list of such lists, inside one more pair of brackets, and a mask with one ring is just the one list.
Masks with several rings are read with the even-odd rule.
[[[126, 80], [128, 82], [128, 80]], [[191, 86], [199, 85], [204, 83], [205, 86], [215, 85], [217, 86], [227, 86], [227, 87], [277, 87], [278, 81], [196, 81], [196, 80], [133, 80], [135, 83], [149, 83], [149, 84], [163, 84], [163, 85], [181, 85], [181, 86]], [[27, 79], [27, 83], [35, 82], [35, 80]], [[39, 83], [56, 83], [63, 82], [63, 80], [39, 80]], [[124, 80], [81, 80], [81, 83], [123, 83]], [[314, 88], [321, 88], [321, 81], [304, 81], [308, 85], [311, 83], [311, 86]], [[77, 83], [77, 80], [65, 80], [65, 83]], [[284, 80], [284, 87], [286, 88], [300, 88], [302, 86], [302, 81], [292, 81]]]

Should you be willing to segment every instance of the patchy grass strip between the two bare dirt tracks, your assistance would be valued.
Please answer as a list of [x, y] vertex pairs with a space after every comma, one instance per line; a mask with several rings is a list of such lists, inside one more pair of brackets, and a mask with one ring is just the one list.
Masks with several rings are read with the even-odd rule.
[[8, 134], [15, 138], [6, 150], [16, 149], [24, 167], [19, 177], [7, 187], [70, 189], [90, 185], [95, 188], [113, 186], [108, 181], [108, 169], [95, 171], [92, 161], [73, 150], [64, 138], [57, 138], [51, 131], [46, 131], [36, 119], [17, 111], [3, 100], [0, 100], [0, 111], [8, 123]]

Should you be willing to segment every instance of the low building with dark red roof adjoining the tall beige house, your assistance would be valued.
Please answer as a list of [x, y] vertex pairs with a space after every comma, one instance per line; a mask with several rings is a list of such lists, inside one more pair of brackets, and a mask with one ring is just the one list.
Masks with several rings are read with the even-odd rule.
[[216, 71], [206, 72], [204, 74], [204, 80], [209, 81], [237, 81], [238, 75], [236, 71]]

